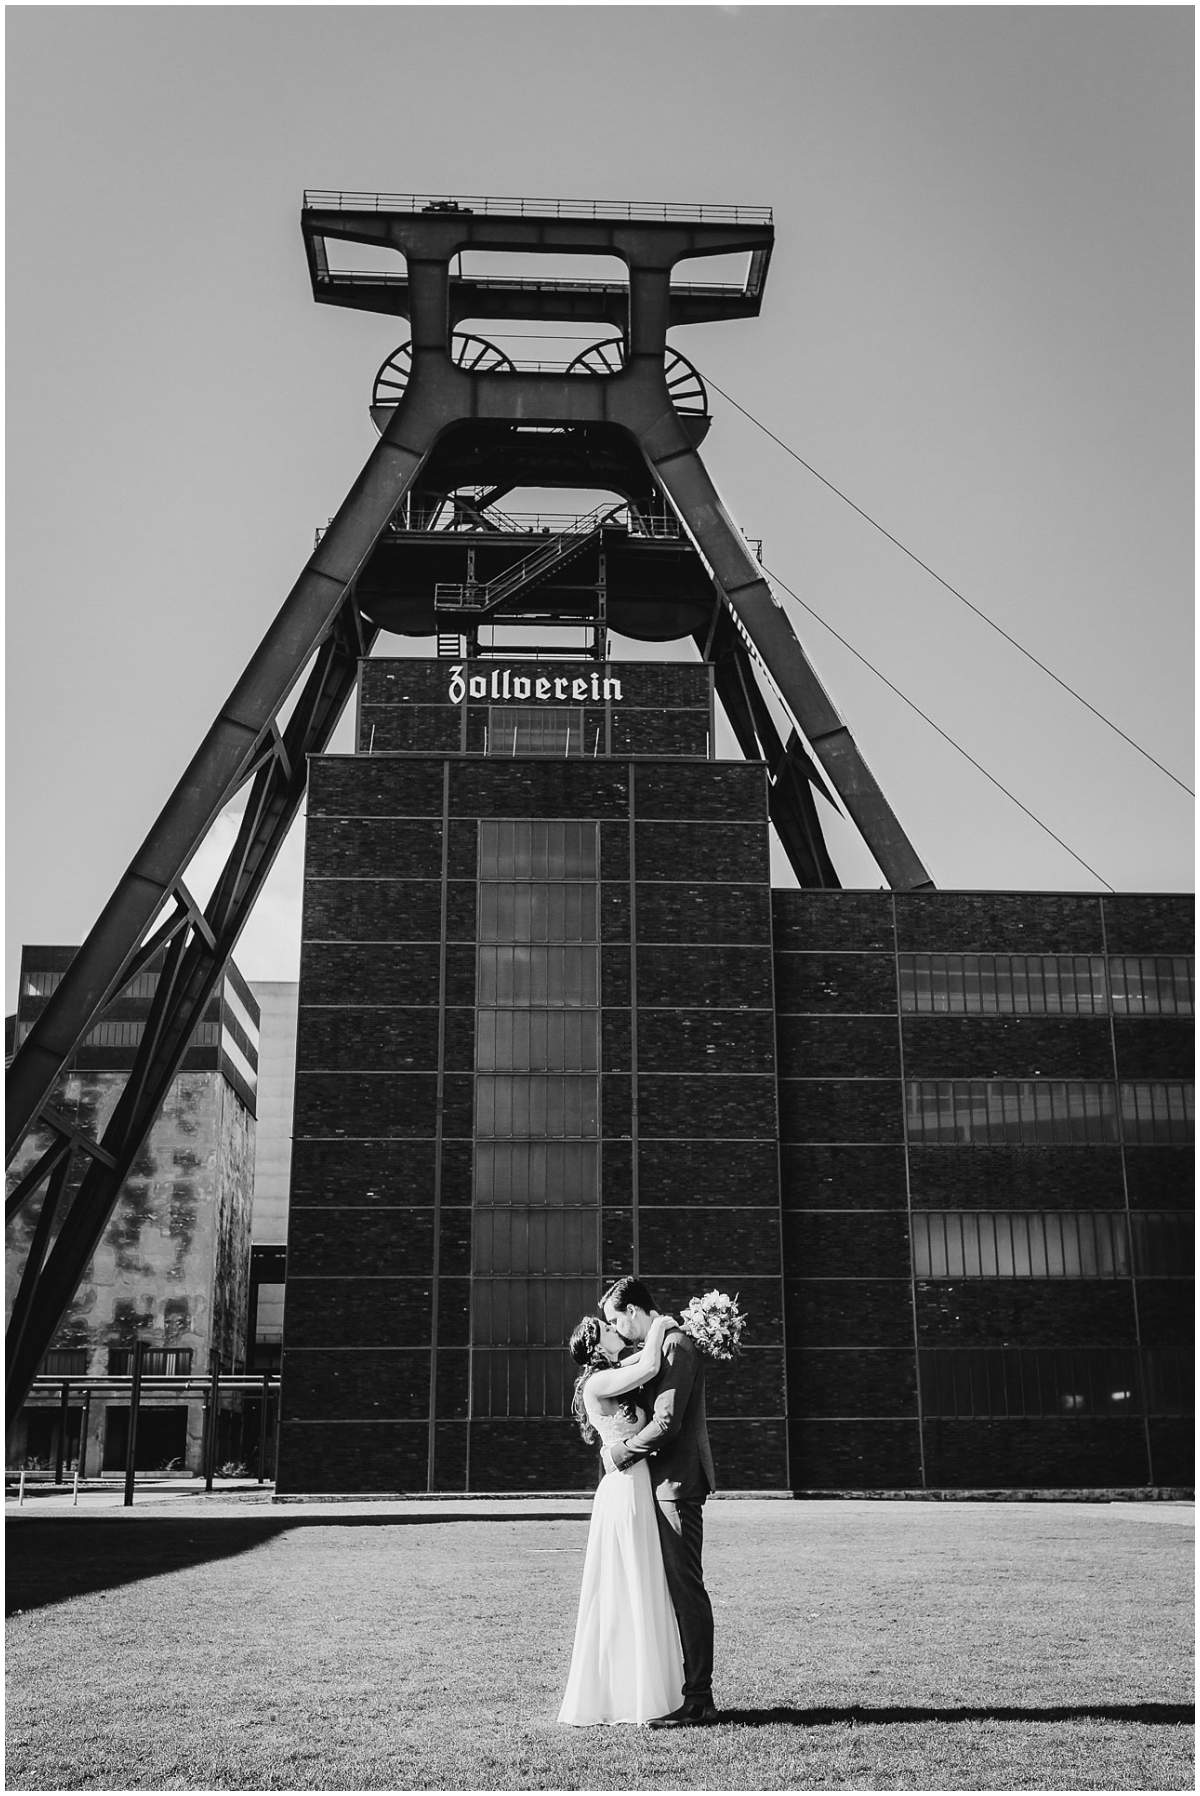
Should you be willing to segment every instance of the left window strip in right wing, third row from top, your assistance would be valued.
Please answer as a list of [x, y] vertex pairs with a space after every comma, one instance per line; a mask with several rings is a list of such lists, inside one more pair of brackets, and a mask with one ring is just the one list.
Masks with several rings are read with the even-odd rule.
[[1128, 1279], [1116, 1211], [925, 1211], [913, 1216], [918, 1279]]

